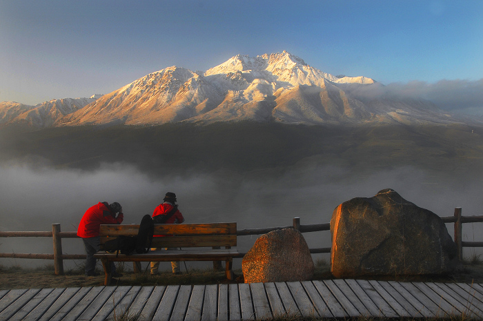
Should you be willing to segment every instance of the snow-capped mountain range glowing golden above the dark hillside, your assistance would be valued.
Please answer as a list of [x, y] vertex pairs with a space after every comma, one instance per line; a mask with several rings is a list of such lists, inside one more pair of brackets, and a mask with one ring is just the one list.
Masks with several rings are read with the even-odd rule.
[[10, 107], [0, 105], [0, 121], [34, 126], [210, 124], [247, 119], [286, 124], [458, 121], [429, 101], [367, 95], [382, 87], [367, 77], [322, 72], [285, 51], [237, 55], [206, 72], [176, 66], [152, 72], [99, 99], [92, 97], [86, 106], [73, 100], [49, 101], [30, 109], [6, 103]]

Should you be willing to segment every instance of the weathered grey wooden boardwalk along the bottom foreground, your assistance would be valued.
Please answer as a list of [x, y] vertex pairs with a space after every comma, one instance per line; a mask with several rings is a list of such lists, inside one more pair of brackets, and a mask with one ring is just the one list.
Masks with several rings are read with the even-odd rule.
[[[114, 309], [115, 308], [115, 309]], [[324, 280], [252, 284], [90, 286], [0, 291], [0, 320], [263, 320], [483, 317], [482, 284]]]

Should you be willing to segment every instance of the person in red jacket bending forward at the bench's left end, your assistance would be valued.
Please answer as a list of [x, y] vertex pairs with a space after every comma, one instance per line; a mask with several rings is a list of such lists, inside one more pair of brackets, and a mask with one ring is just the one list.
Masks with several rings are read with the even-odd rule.
[[[117, 214], [116, 216], [116, 213]], [[84, 248], [86, 249], [86, 275], [95, 276], [99, 273], [95, 272], [97, 260], [94, 254], [100, 249], [101, 240], [99, 237], [99, 228], [101, 224], [121, 224], [124, 219], [122, 206], [118, 202], [108, 204], [108, 202], [99, 202], [88, 208], [84, 213], [79, 228], [77, 228], [77, 236], [82, 237]], [[112, 276], [119, 278], [122, 275], [116, 272], [114, 262], [111, 265]]]

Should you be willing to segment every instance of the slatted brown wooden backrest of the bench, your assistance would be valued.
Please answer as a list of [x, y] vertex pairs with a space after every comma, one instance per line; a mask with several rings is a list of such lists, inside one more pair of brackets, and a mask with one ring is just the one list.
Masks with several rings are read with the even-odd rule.
[[[137, 235], [139, 224], [103, 224], [101, 244], [119, 235]], [[237, 246], [237, 223], [155, 224], [152, 247]]]

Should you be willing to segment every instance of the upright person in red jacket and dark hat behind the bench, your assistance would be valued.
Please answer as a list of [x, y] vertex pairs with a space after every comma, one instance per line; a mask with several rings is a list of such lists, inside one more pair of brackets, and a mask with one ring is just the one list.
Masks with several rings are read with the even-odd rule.
[[[168, 192], [164, 196], [164, 203], [159, 204], [155, 211], [152, 212], [152, 220], [155, 224], [181, 224], [184, 222], [184, 217], [178, 210], [176, 204], [176, 194]], [[162, 236], [162, 235], [155, 235]], [[156, 251], [157, 248], [152, 248]], [[175, 248], [166, 248], [166, 250], [176, 250]], [[156, 274], [159, 267], [159, 262], [151, 262], [151, 274]], [[179, 262], [171, 262], [172, 273], [181, 274]]]

